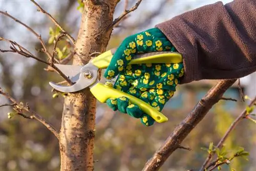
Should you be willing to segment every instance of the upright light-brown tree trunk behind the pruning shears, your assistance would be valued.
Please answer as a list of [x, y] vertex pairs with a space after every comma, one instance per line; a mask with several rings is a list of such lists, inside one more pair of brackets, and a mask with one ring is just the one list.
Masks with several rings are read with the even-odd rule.
[[[117, 1], [84, 1], [73, 65], [84, 65], [108, 45]], [[82, 59], [82, 60], [81, 60]], [[89, 88], [65, 98], [59, 133], [61, 170], [93, 170], [96, 99]]]

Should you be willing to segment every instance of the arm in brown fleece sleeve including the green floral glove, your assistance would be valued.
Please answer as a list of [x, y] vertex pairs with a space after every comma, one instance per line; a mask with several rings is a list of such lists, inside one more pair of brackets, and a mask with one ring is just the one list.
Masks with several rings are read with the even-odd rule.
[[[255, 0], [203, 6], [125, 38], [104, 76], [112, 78], [119, 74], [115, 88], [161, 111], [177, 84], [239, 78], [256, 71], [255, 30]], [[178, 51], [183, 62], [127, 66], [135, 54], [155, 51]], [[154, 123], [127, 98], [109, 99], [107, 104], [113, 110], [140, 118], [146, 126]]]

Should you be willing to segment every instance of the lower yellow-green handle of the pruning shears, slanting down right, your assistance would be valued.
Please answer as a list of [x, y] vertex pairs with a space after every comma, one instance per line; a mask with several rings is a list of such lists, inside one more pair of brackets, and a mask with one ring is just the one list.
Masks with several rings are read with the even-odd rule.
[[105, 103], [106, 100], [108, 100], [109, 98], [127, 97], [133, 104], [137, 104], [143, 112], [155, 119], [155, 121], [162, 123], [168, 120], [168, 118], [164, 116], [161, 112], [157, 111], [150, 104], [147, 104], [143, 100], [140, 100], [130, 94], [116, 90], [103, 83], [97, 83], [90, 90], [94, 97], [96, 97], [102, 103]]

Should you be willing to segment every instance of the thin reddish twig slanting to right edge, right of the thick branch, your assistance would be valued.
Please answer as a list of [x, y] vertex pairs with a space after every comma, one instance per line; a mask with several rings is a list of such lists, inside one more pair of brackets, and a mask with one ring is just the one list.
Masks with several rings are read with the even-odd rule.
[[[256, 97], [250, 102], [249, 106], [252, 106], [254, 103], [256, 102]], [[224, 141], [227, 139], [228, 135], [230, 134], [230, 132], [237, 126], [237, 124], [243, 119], [245, 118], [247, 111], [246, 109], [236, 118], [236, 120], [234, 120], [232, 122], [232, 124], [229, 126], [227, 132], [225, 133], [225, 135], [221, 138], [221, 140], [219, 141], [217, 148], [222, 147]], [[208, 157], [206, 158], [206, 160], [204, 161], [202, 167], [201, 167], [201, 171], [204, 170], [204, 168], [206, 167], [206, 165], [209, 163], [209, 161], [211, 160], [212, 156], [215, 155], [215, 152], [211, 152]]]

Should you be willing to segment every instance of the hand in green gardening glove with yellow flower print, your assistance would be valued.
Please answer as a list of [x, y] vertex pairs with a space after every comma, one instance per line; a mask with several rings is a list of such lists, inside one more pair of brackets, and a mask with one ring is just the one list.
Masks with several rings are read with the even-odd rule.
[[[159, 29], [149, 29], [129, 36], [116, 50], [104, 76], [111, 79], [119, 74], [114, 88], [131, 94], [161, 111], [164, 104], [174, 95], [179, 78], [184, 74], [183, 63], [127, 65], [136, 54], [156, 51], [176, 52], [175, 47]], [[126, 97], [110, 98], [106, 103], [114, 111], [140, 118], [146, 126], [154, 124], [152, 117]]]

